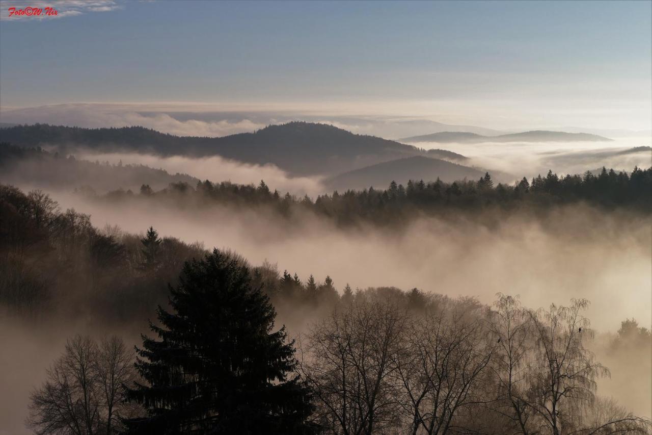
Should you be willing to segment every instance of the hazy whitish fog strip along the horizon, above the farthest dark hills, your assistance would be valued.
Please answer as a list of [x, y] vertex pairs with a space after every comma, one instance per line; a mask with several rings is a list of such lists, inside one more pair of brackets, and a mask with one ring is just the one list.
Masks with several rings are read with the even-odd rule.
[[[349, 101], [319, 103], [68, 103], [58, 105], [27, 106], [22, 108], [0, 106], [0, 121], [6, 123], [50, 123], [78, 127], [147, 127], [172, 135], [225, 136], [261, 129], [270, 124], [288, 121], [322, 122], [362, 135], [374, 135], [393, 139], [415, 135], [428, 135], [441, 131], [469, 131], [481, 135], [500, 135], [528, 130], [550, 130], [593, 133], [610, 138], [649, 137], [649, 119], [640, 111], [621, 113], [620, 129], [599, 128], [603, 116], [609, 116], [608, 125], [614, 125], [612, 114], [593, 113], [586, 119], [574, 118], [581, 113], [563, 113], [557, 120], [564, 126], [554, 125], [554, 120], [541, 124], [539, 118], [531, 118], [520, 107], [518, 115], [509, 115], [495, 106], [479, 110], [486, 102], [455, 106], [454, 110], [433, 110], [443, 101]], [[551, 108], [559, 114], [559, 108]], [[649, 108], [646, 108], [649, 111]], [[465, 113], [466, 112], [466, 113]], [[625, 116], [627, 115], [627, 116]], [[487, 118], [488, 116], [488, 118]], [[644, 123], [632, 123], [633, 116], [640, 116]], [[584, 119], [583, 119], [584, 118]], [[649, 117], [647, 117], [649, 118]], [[533, 121], [535, 120], [536, 121]], [[568, 122], [576, 122], [569, 127]], [[630, 124], [631, 123], [631, 124]], [[492, 125], [492, 128], [481, 127]], [[598, 128], [597, 128], [598, 127]], [[634, 127], [634, 130], [627, 130]], [[641, 130], [645, 128], [645, 130]], [[649, 144], [649, 140], [648, 140]], [[436, 147], [437, 148], [437, 147]]]

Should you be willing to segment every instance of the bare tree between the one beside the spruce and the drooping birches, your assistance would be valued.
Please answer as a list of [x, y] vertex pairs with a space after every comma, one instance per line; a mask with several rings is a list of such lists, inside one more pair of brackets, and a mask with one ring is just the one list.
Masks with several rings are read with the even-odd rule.
[[480, 321], [455, 312], [411, 323], [396, 374], [412, 434], [447, 434], [462, 409], [485, 401], [481, 383], [495, 347]]

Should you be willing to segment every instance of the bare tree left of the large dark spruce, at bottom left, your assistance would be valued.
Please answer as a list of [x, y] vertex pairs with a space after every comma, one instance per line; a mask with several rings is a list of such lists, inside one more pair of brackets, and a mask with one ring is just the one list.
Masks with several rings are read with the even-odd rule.
[[65, 351], [31, 394], [27, 425], [37, 434], [113, 434], [123, 383], [132, 379], [130, 353], [111, 337], [98, 346], [88, 336], [68, 340]]

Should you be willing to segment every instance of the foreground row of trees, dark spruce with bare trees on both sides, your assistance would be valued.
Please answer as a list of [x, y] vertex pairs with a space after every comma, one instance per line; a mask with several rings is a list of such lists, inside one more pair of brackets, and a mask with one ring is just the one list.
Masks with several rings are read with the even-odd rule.
[[[68, 342], [32, 395], [29, 424], [65, 434], [650, 433], [649, 420], [597, 395], [608, 368], [585, 347], [586, 300], [528, 310], [507, 295], [486, 307], [358, 291], [297, 344], [274, 327], [261, 288], [232, 253], [186, 263], [135, 356], [115, 338]], [[627, 321], [613, 346], [649, 340]]]

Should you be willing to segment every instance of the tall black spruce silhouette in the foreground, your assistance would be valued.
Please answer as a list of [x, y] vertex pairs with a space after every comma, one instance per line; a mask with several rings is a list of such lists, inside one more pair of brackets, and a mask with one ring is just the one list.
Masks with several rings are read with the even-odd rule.
[[276, 312], [246, 266], [213, 250], [185, 264], [170, 287], [171, 312], [158, 307], [155, 338], [143, 336], [136, 368], [148, 385], [128, 399], [147, 417], [136, 434], [303, 434], [312, 432], [308, 389], [291, 377], [293, 342], [273, 331]]

